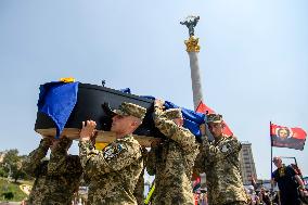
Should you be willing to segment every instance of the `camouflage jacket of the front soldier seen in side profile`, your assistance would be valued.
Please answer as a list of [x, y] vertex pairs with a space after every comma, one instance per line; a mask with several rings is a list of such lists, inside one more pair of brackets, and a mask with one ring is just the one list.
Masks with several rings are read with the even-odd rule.
[[79, 142], [79, 156], [90, 180], [88, 203], [137, 205], [133, 190], [143, 168], [141, 146], [132, 136], [117, 139], [102, 151]]

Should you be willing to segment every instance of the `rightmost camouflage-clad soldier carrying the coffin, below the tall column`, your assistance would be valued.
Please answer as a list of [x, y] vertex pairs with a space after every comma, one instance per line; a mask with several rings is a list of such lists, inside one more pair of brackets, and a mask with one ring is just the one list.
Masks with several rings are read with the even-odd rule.
[[[205, 136], [195, 161], [195, 172], [206, 174], [208, 204], [246, 204], [247, 197], [241, 178], [239, 161], [242, 145], [235, 137], [228, 137], [222, 133], [221, 115], [209, 114], [207, 126], [214, 141], [208, 142]], [[202, 131], [205, 133], [205, 129]]]

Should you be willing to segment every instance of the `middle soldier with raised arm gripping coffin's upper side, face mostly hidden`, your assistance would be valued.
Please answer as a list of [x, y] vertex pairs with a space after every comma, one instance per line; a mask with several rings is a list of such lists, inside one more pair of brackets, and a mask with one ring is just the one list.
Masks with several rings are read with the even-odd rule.
[[164, 112], [163, 104], [155, 100], [154, 121], [166, 140], [153, 144], [146, 164], [147, 172], [155, 175], [154, 204], [193, 205], [191, 177], [198, 145], [194, 134], [182, 127], [181, 110]]

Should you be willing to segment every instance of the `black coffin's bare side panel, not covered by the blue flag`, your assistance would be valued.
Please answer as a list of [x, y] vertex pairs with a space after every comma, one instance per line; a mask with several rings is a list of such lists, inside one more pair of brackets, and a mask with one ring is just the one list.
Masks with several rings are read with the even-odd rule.
[[[79, 84], [77, 103], [65, 128], [81, 129], [81, 121], [92, 119], [97, 121], [98, 130], [110, 131], [112, 118], [108, 110], [103, 108], [102, 105], [108, 105], [110, 108], [114, 110], [123, 102], [134, 103], [147, 110], [142, 125], [133, 132], [134, 134], [162, 137], [162, 133], [155, 128], [152, 119], [153, 100], [89, 84]], [[35, 130], [38, 131], [50, 128], [55, 128], [53, 120], [43, 113], [38, 112]]]

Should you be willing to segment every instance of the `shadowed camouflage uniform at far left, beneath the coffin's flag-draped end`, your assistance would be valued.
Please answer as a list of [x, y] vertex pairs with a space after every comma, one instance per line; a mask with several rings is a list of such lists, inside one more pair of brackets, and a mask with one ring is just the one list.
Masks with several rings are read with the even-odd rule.
[[66, 154], [72, 140], [62, 138], [50, 161], [42, 161], [51, 143], [50, 139], [43, 138], [39, 148], [23, 163], [23, 169], [36, 178], [27, 204], [70, 205], [73, 194], [79, 188], [82, 174], [79, 156]]

